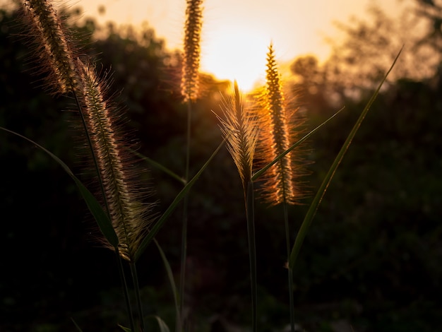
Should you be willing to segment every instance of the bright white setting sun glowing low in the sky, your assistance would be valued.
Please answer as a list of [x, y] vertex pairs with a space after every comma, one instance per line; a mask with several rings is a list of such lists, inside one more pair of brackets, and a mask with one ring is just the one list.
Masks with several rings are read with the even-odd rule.
[[265, 77], [265, 57], [270, 39], [244, 27], [212, 31], [202, 40], [201, 71], [218, 79], [237, 80], [249, 92]]

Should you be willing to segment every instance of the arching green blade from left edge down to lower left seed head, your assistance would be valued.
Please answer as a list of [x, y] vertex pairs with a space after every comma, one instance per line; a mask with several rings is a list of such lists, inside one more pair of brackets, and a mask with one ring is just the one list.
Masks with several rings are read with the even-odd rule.
[[83, 183], [80, 182], [80, 180], [73, 174], [71, 169], [66, 165], [61, 159], [59, 159], [56, 155], [54, 155], [52, 152], [47, 150], [46, 148], [43, 148], [40, 146], [40, 144], [36, 143], [35, 141], [32, 141], [30, 138], [27, 138], [23, 135], [20, 135], [16, 133], [15, 131], [11, 131], [9, 129], [6, 129], [4, 127], [0, 126], [1, 130], [7, 131], [8, 133], [14, 134], [20, 138], [25, 139], [26, 141], [34, 144], [37, 146], [37, 148], [40, 148], [45, 153], [47, 153], [52, 159], [54, 159], [58, 164], [63, 167], [63, 169], [68, 173], [68, 175], [73, 179], [73, 181], [78, 186], [78, 189], [80, 191], [81, 196], [83, 196], [86, 204], [88, 205], [88, 208], [92, 215], [94, 216], [95, 220], [97, 221], [98, 227], [100, 227], [100, 230], [104, 237], [106, 237], [107, 241], [112, 245], [112, 247], [117, 248], [118, 247], [118, 237], [117, 234], [115, 234], [114, 228], [112, 227], [112, 223], [110, 222], [107, 213], [105, 213], [100, 205], [98, 203], [97, 198], [93, 196], [90, 191], [84, 186]]

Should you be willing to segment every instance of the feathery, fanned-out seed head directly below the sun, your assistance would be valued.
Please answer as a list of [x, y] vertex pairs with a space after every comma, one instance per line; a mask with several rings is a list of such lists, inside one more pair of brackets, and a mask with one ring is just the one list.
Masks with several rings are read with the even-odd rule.
[[234, 94], [223, 101], [225, 119], [220, 119], [222, 134], [227, 141], [227, 149], [237, 165], [244, 191], [251, 181], [253, 155], [258, 140], [256, 117], [244, 105], [244, 97], [239, 93], [234, 81]]

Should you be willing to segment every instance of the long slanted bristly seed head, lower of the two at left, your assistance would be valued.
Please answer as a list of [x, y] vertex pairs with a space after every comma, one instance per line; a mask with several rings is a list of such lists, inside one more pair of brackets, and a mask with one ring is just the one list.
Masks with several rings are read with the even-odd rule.
[[133, 261], [136, 249], [152, 222], [148, 217], [153, 204], [141, 202], [141, 190], [135, 181], [136, 170], [128, 159], [116, 124], [118, 109], [104, 97], [107, 83], [97, 78], [90, 64], [78, 60], [78, 69], [79, 95], [104, 186], [108, 213], [119, 238], [119, 254]]

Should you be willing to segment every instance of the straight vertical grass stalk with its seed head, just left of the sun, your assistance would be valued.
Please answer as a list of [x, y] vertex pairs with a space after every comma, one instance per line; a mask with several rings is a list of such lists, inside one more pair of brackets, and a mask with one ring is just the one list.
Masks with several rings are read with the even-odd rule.
[[[187, 103], [186, 127], [186, 166], [184, 180], [189, 181], [192, 102], [198, 97], [198, 76], [201, 57], [201, 27], [203, 24], [203, 0], [186, 0], [186, 22], [184, 25], [184, 54], [181, 73], [181, 95]], [[189, 193], [183, 201], [183, 225], [181, 231], [181, 274], [180, 274], [180, 314], [181, 331], [184, 331], [184, 297], [186, 284], [186, 257], [187, 257], [187, 221], [188, 221]], [[177, 331], [179, 331], [177, 329]]]

